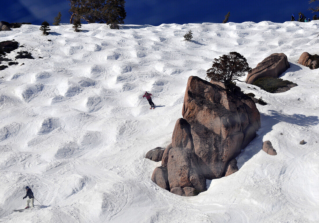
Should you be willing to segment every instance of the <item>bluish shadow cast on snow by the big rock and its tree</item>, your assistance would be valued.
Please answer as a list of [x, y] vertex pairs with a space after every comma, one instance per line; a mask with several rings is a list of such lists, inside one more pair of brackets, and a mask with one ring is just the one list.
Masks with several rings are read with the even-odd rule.
[[[273, 130], [273, 126], [280, 123], [290, 123], [299, 126], [315, 126], [319, 124], [319, 117], [315, 115], [302, 115], [293, 114], [287, 115], [282, 114], [275, 110], [270, 110], [268, 114], [260, 113], [261, 128], [257, 132], [256, 138], [254, 138], [249, 145], [238, 155], [237, 157], [237, 167], [240, 169], [245, 162], [250, 160], [254, 155], [256, 155], [263, 147], [263, 137]], [[276, 149], [276, 148], [275, 148]]]

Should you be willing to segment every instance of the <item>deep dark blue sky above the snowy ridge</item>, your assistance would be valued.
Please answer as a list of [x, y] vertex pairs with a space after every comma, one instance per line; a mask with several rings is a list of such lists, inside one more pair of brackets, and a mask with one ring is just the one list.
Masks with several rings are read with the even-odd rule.
[[[0, 20], [7, 22], [31, 22], [40, 25], [47, 21], [50, 25], [59, 11], [62, 23], [70, 21], [67, 0], [7, 0], [2, 1]], [[127, 0], [125, 24], [158, 26], [162, 23], [221, 23], [230, 11], [229, 22], [245, 21], [290, 21], [292, 13], [298, 17], [301, 11], [312, 19], [314, 13], [308, 11], [308, 0]], [[317, 13], [319, 16], [319, 13]], [[296, 19], [297, 20], [297, 19]], [[84, 22], [83, 22], [84, 23]]]

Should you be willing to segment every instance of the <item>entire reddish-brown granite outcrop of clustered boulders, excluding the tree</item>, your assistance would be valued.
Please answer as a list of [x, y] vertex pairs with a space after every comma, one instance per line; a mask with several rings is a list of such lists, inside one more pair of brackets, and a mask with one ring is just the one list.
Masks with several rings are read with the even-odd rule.
[[[167, 166], [170, 191], [193, 196], [206, 190], [206, 179], [223, 177], [226, 170], [227, 175], [238, 170], [234, 158], [256, 137], [260, 114], [249, 96], [241, 92], [236, 96], [191, 76], [182, 116], [175, 124], [162, 165]], [[155, 169], [153, 175], [158, 171]]]

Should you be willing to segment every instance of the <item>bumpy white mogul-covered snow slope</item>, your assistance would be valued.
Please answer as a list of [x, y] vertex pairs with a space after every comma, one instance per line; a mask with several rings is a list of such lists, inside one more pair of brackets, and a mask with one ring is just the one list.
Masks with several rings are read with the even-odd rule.
[[[9, 58], [35, 57], [0, 71], [0, 222], [319, 221], [319, 69], [297, 63], [319, 53], [318, 21], [88, 24], [80, 33], [62, 25], [48, 36], [39, 27], [0, 32], [24, 46]], [[193, 40], [183, 41], [189, 29]], [[237, 157], [239, 171], [196, 197], [174, 195], [151, 181], [161, 163], [145, 154], [171, 142], [189, 76], [205, 78], [232, 51], [252, 68], [285, 53], [281, 78], [298, 86], [272, 94], [238, 83], [268, 103], [257, 104], [262, 127]], [[154, 110], [145, 91], [161, 98]], [[265, 140], [278, 155], [261, 150]], [[26, 185], [43, 205], [13, 212], [26, 206]]]

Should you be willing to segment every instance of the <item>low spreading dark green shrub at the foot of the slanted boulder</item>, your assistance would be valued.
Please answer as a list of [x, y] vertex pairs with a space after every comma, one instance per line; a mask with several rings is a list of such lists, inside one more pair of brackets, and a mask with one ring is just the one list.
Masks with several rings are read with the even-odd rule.
[[253, 85], [258, 86], [269, 93], [275, 93], [279, 87], [286, 87], [287, 85], [291, 84], [293, 84], [293, 82], [289, 80], [271, 77], [259, 78], [253, 83]]

